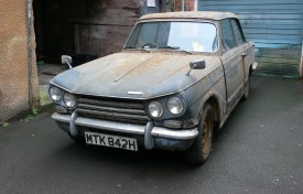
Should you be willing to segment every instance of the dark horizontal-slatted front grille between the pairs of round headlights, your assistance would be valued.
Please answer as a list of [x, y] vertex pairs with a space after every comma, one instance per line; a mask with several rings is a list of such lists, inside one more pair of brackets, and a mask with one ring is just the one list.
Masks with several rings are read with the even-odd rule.
[[149, 121], [143, 104], [140, 101], [80, 97], [77, 111], [82, 117], [102, 120], [144, 125]]

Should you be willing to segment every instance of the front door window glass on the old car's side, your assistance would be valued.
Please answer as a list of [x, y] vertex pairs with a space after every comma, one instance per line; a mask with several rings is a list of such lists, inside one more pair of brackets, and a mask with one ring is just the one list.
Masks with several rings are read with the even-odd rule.
[[237, 46], [235, 35], [232, 32], [232, 26], [229, 19], [225, 19], [220, 21], [221, 25], [221, 44], [225, 51], [231, 50]]

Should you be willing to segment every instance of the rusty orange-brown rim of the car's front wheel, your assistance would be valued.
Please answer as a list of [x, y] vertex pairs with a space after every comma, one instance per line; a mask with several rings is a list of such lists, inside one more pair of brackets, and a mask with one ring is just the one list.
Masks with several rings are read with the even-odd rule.
[[212, 119], [207, 116], [202, 125], [202, 152], [203, 154], [208, 154], [212, 146]]

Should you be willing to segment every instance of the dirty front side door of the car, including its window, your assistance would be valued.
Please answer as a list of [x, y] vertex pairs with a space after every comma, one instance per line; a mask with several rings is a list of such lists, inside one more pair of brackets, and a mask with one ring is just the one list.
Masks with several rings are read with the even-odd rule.
[[244, 48], [238, 46], [231, 19], [220, 21], [223, 66], [226, 80], [227, 111], [231, 111], [244, 93]]

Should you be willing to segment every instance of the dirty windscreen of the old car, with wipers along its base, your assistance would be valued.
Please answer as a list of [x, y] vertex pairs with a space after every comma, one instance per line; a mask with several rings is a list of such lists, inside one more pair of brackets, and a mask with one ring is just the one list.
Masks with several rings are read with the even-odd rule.
[[139, 23], [125, 48], [169, 48], [214, 53], [218, 50], [217, 30], [212, 23]]

